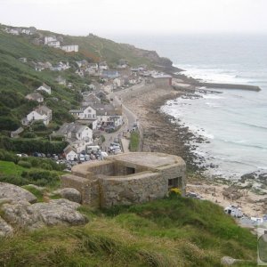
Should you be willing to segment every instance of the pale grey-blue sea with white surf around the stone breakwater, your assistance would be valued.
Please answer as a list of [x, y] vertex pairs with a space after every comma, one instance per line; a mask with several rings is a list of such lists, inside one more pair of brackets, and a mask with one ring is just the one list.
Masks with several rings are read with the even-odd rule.
[[[198, 99], [167, 101], [161, 110], [206, 137], [196, 153], [218, 166], [208, 174], [239, 179], [267, 173], [267, 35], [119, 36], [121, 43], [155, 50], [206, 82], [258, 85], [260, 92], [218, 90]], [[174, 101], [177, 104], [174, 104]]]

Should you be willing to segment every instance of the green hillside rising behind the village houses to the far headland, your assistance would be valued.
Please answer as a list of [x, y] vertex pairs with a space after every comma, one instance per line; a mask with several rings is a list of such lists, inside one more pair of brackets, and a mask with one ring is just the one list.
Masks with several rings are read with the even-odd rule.
[[[161, 59], [155, 52], [137, 49], [128, 44], [117, 44], [98, 36], [62, 36], [60, 34], [37, 31], [33, 36], [13, 36], [4, 32], [4, 25], [0, 24], [0, 131], [12, 131], [20, 126], [20, 119], [25, 117], [38, 103], [25, 100], [25, 95], [43, 83], [52, 87], [52, 95], [44, 94], [44, 103], [53, 109], [53, 122], [57, 125], [73, 121], [69, 109], [77, 108], [80, 100], [79, 92], [90, 84], [90, 77], [81, 78], [74, 72], [76, 61], [107, 61], [112, 68], [119, 59], [124, 58], [131, 66], [147, 64], [149, 66], [170, 61]], [[79, 53], [65, 53], [61, 49], [50, 48], [47, 45], [32, 44], [32, 41], [43, 36], [61, 36], [61, 44], [78, 44]], [[27, 63], [19, 61], [27, 58]], [[71, 69], [57, 72], [51, 70], [36, 71], [32, 62], [49, 61], [53, 65], [59, 61], [69, 61]], [[73, 90], [58, 85], [56, 77], [66, 78], [72, 83]], [[55, 98], [58, 101], [55, 101]], [[9, 133], [5, 133], [9, 134]]]

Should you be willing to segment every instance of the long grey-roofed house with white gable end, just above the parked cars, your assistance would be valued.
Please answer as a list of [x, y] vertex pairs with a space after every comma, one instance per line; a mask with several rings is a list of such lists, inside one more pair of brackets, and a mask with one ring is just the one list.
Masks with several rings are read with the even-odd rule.
[[77, 123], [65, 123], [53, 135], [64, 136], [68, 142], [85, 141], [87, 144], [93, 142], [93, 131], [86, 125]]

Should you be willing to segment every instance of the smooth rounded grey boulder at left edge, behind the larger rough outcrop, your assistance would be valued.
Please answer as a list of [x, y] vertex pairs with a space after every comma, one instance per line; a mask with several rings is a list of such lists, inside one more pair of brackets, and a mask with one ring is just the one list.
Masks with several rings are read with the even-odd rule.
[[26, 200], [29, 203], [35, 203], [37, 200], [36, 196], [28, 190], [7, 182], [0, 182], [0, 199], [1, 198], [7, 198], [16, 201]]

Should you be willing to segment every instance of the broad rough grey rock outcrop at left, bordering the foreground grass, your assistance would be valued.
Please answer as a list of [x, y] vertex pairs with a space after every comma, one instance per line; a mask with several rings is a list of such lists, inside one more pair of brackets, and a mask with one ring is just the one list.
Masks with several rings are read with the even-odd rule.
[[31, 231], [44, 226], [87, 223], [86, 217], [77, 212], [78, 206], [80, 205], [68, 199], [54, 199], [49, 203], [33, 205], [20, 200], [2, 205], [1, 210], [5, 223]]

